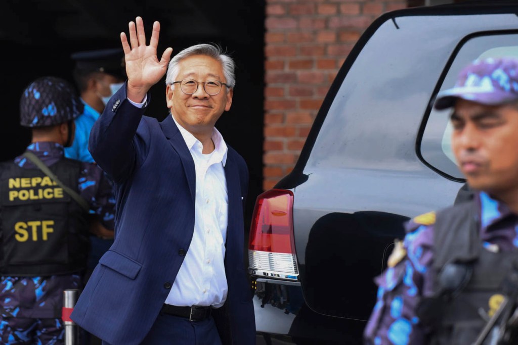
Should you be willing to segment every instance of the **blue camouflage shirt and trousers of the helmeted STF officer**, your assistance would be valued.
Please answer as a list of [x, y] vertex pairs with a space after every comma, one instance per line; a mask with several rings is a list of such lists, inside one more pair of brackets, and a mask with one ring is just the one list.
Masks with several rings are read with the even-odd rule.
[[[27, 147], [46, 166], [63, 158], [63, 146], [54, 142], [35, 142]], [[19, 156], [15, 163], [21, 168], [35, 169], [31, 161]], [[95, 164], [82, 163], [78, 190], [90, 204], [90, 213], [97, 215], [108, 229], [114, 227], [115, 200], [111, 185]], [[1, 229], [0, 229], [1, 230]], [[42, 277], [0, 278], [0, 343], [63, 343], [61, 320], [63, 290], [82, 289], [80, 273]]]

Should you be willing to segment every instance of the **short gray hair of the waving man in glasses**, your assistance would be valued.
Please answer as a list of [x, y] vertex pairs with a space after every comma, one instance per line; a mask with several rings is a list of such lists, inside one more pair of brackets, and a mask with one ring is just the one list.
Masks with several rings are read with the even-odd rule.
[[179, 62], [192, 55], [207, 55], [219, 61], [223, 66], [223, 74], [226, 79], [226, 84], [232, 88], [236, 85], [236, 76], [234, 73], [236, 65], [232, 57], [226, 55], [220, 46], [207, 43], [196, 44], [195, 46], [185, 48], [171, 59], [165, 78], [166, 85], [170, 85], [178, 77]]

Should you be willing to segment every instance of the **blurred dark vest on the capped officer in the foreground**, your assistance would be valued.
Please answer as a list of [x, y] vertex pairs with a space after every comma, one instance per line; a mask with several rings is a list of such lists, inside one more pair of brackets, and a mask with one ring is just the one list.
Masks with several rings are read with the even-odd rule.
[[[418, 308], [432, 329], [431, 345], [473, 343], [502, 300], [502, 281], [517, 251], [492, 252], [482, 247], [476, 203], [465, 202], [439, 212], [434, 225], [434, 293]], [[452, 284], [452, 281], [456, 281]]]

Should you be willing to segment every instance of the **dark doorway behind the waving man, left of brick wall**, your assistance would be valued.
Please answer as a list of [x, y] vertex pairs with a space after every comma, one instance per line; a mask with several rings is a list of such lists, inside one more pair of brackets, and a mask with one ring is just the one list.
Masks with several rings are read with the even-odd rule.
[[[7, 0], [0, 4], [3, 66], [3, 124], [0, 160], [16, 157], [30, 141], [19, 126], [19, 99], [32, 80], [53, 75], [72, 81], [70, 53], [120, 47], [119, 35], [127, 23], [143, 18], [146, 32], [160, 21], [158, 54], [192, 44], [219, 43], [235, 59], [236, 88], [232, 109], [217, 127], [227, 144], [247, 161], [250, 189], [246, 219], [249, 224], [255, 197], [262, 192], [264, 0]], [[146, 115], [167, 115], [165, 84], [151, 89]]]

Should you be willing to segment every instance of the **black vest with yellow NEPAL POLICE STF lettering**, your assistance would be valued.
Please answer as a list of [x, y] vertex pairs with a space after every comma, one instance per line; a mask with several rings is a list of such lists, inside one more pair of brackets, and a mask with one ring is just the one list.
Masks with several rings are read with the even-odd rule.
[[[61, 159], [49, 169], [77, 192], [81, 162]], [[88, 214], [39, 169], [0, 164], [0, 273], [78, 273], [89, 251]]]

